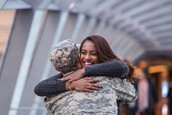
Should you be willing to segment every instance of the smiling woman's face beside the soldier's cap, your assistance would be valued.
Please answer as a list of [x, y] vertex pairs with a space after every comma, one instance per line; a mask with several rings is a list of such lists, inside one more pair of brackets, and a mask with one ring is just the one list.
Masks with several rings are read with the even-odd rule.
[[86, 40], [83, 44], [80, 61], [83, 67], [99, 63], [97, 49], [92, 41]]

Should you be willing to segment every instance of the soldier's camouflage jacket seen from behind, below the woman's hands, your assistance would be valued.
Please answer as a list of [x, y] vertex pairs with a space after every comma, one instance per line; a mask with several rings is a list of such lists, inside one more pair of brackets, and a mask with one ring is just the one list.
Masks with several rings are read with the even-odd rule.
[[134, 86], [125, 79], [94, 77], [102, 87], [94, 93], [68, 91], [46, 97], [49, 115], [117, 115], [117, 100], [131, 102], [137, 97]]

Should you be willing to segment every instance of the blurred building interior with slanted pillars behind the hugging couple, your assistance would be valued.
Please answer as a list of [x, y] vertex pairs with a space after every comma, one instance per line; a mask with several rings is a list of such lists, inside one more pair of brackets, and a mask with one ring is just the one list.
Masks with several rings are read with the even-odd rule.
[[79, 44], [93, 34], [135, 65], [139, 95], [142, 80], [149, 86], [146, 110], [137, 100], [121, 105], [120, 115], [172, 115], [171, 0], [1, 0], [1, 115], [47, 115], [33, 90], [57, 73], [49, 51], [61, 40]]

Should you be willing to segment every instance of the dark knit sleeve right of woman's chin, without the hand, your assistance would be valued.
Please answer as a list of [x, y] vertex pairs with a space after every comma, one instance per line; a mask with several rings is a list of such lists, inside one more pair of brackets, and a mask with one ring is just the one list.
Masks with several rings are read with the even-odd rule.
[[123, 61], [112, 60], [100, 64], [85, 67], [86, 76], [108, 76], [125, 79], [129, 73], [129, 67]]

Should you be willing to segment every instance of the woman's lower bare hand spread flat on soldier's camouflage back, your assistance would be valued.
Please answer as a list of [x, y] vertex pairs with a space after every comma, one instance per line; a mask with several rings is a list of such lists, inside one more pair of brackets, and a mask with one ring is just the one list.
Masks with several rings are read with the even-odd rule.
[[71, 82], [71, 87], [75, 90], [82, 92], [94, 92], [95, 90], [99, 90], [101, 87], [98, 85], [99, 80], [85, 77], [81, 78], [77, 81]]

